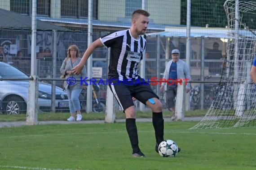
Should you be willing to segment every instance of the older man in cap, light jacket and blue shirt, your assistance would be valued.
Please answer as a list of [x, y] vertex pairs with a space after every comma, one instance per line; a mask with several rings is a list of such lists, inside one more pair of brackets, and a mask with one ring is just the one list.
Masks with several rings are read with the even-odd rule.
[[[164, 79], [174, 80], [169, 83], [162, 83], [160, 90], [166, 91], [166, 104], [169, 110], [172, 110], [172, 120], [175, 119], [175, 98], [177, 96], [177, 79], [190, 79], [190, 71], [187, 64], [180, 59], [180, 51], [178, 49], [172, 50], [172, 60], [170, 60], [163, 73]], [[190, 91], [190, 83], [186, 85], [186, 93]]]

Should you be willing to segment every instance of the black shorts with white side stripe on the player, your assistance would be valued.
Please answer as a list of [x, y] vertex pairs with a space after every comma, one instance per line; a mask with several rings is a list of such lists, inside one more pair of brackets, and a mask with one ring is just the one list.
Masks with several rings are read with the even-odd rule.
[[151, 89], [150, 84], [142, 78], [133, 81], [119, 81], [117, 79], [110, 80], [109, 87], [114, 94], [119, 106], [122, 110], [126, 110], [130, 106], [134, 106], [132, 97], [146, 105], [150, 98], [159, 98]]

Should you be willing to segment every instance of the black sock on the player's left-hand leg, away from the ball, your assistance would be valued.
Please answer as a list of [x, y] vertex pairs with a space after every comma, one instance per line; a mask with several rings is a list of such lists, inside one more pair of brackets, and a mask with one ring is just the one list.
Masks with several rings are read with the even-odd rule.
[[141, 150], [139, 148], [136, 119], [128, 118], [125, 120], [125, 123], [126, 123], [126, 130], [128, 132], [128, 136], [132, 145], [132, 154], [138, 153]]

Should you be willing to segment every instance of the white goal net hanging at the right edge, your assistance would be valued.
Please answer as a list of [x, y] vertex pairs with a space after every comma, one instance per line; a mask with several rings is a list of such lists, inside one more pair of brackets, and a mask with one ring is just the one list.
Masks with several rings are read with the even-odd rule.
[[[256, 89], [250, 77], [256, 55], [256, 2], [226, 0], [228, 19], [226, 59], [215, 98], [204, 118], [191, 129], [256, 126]], [[249, 17], [248, 17], [249, 16]], [[255, 22], [255, 21], [254, 21]]]

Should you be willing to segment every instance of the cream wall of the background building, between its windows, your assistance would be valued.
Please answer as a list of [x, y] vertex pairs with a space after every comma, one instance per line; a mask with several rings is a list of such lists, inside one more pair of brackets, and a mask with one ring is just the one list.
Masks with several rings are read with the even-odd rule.
[[[0, 8], [10, 10], [10, 0], [1, 0]], [[150, 22], [180, 25], [181, 0], [146, 0], [146, 10], [150, 13]], [[51, 17], [60, 18], [61, 0], [51, 0], [50, 11]], [[98, 0], [98, 20], [130, 22], [130, 17], [125, 17], [125, 0]]]

